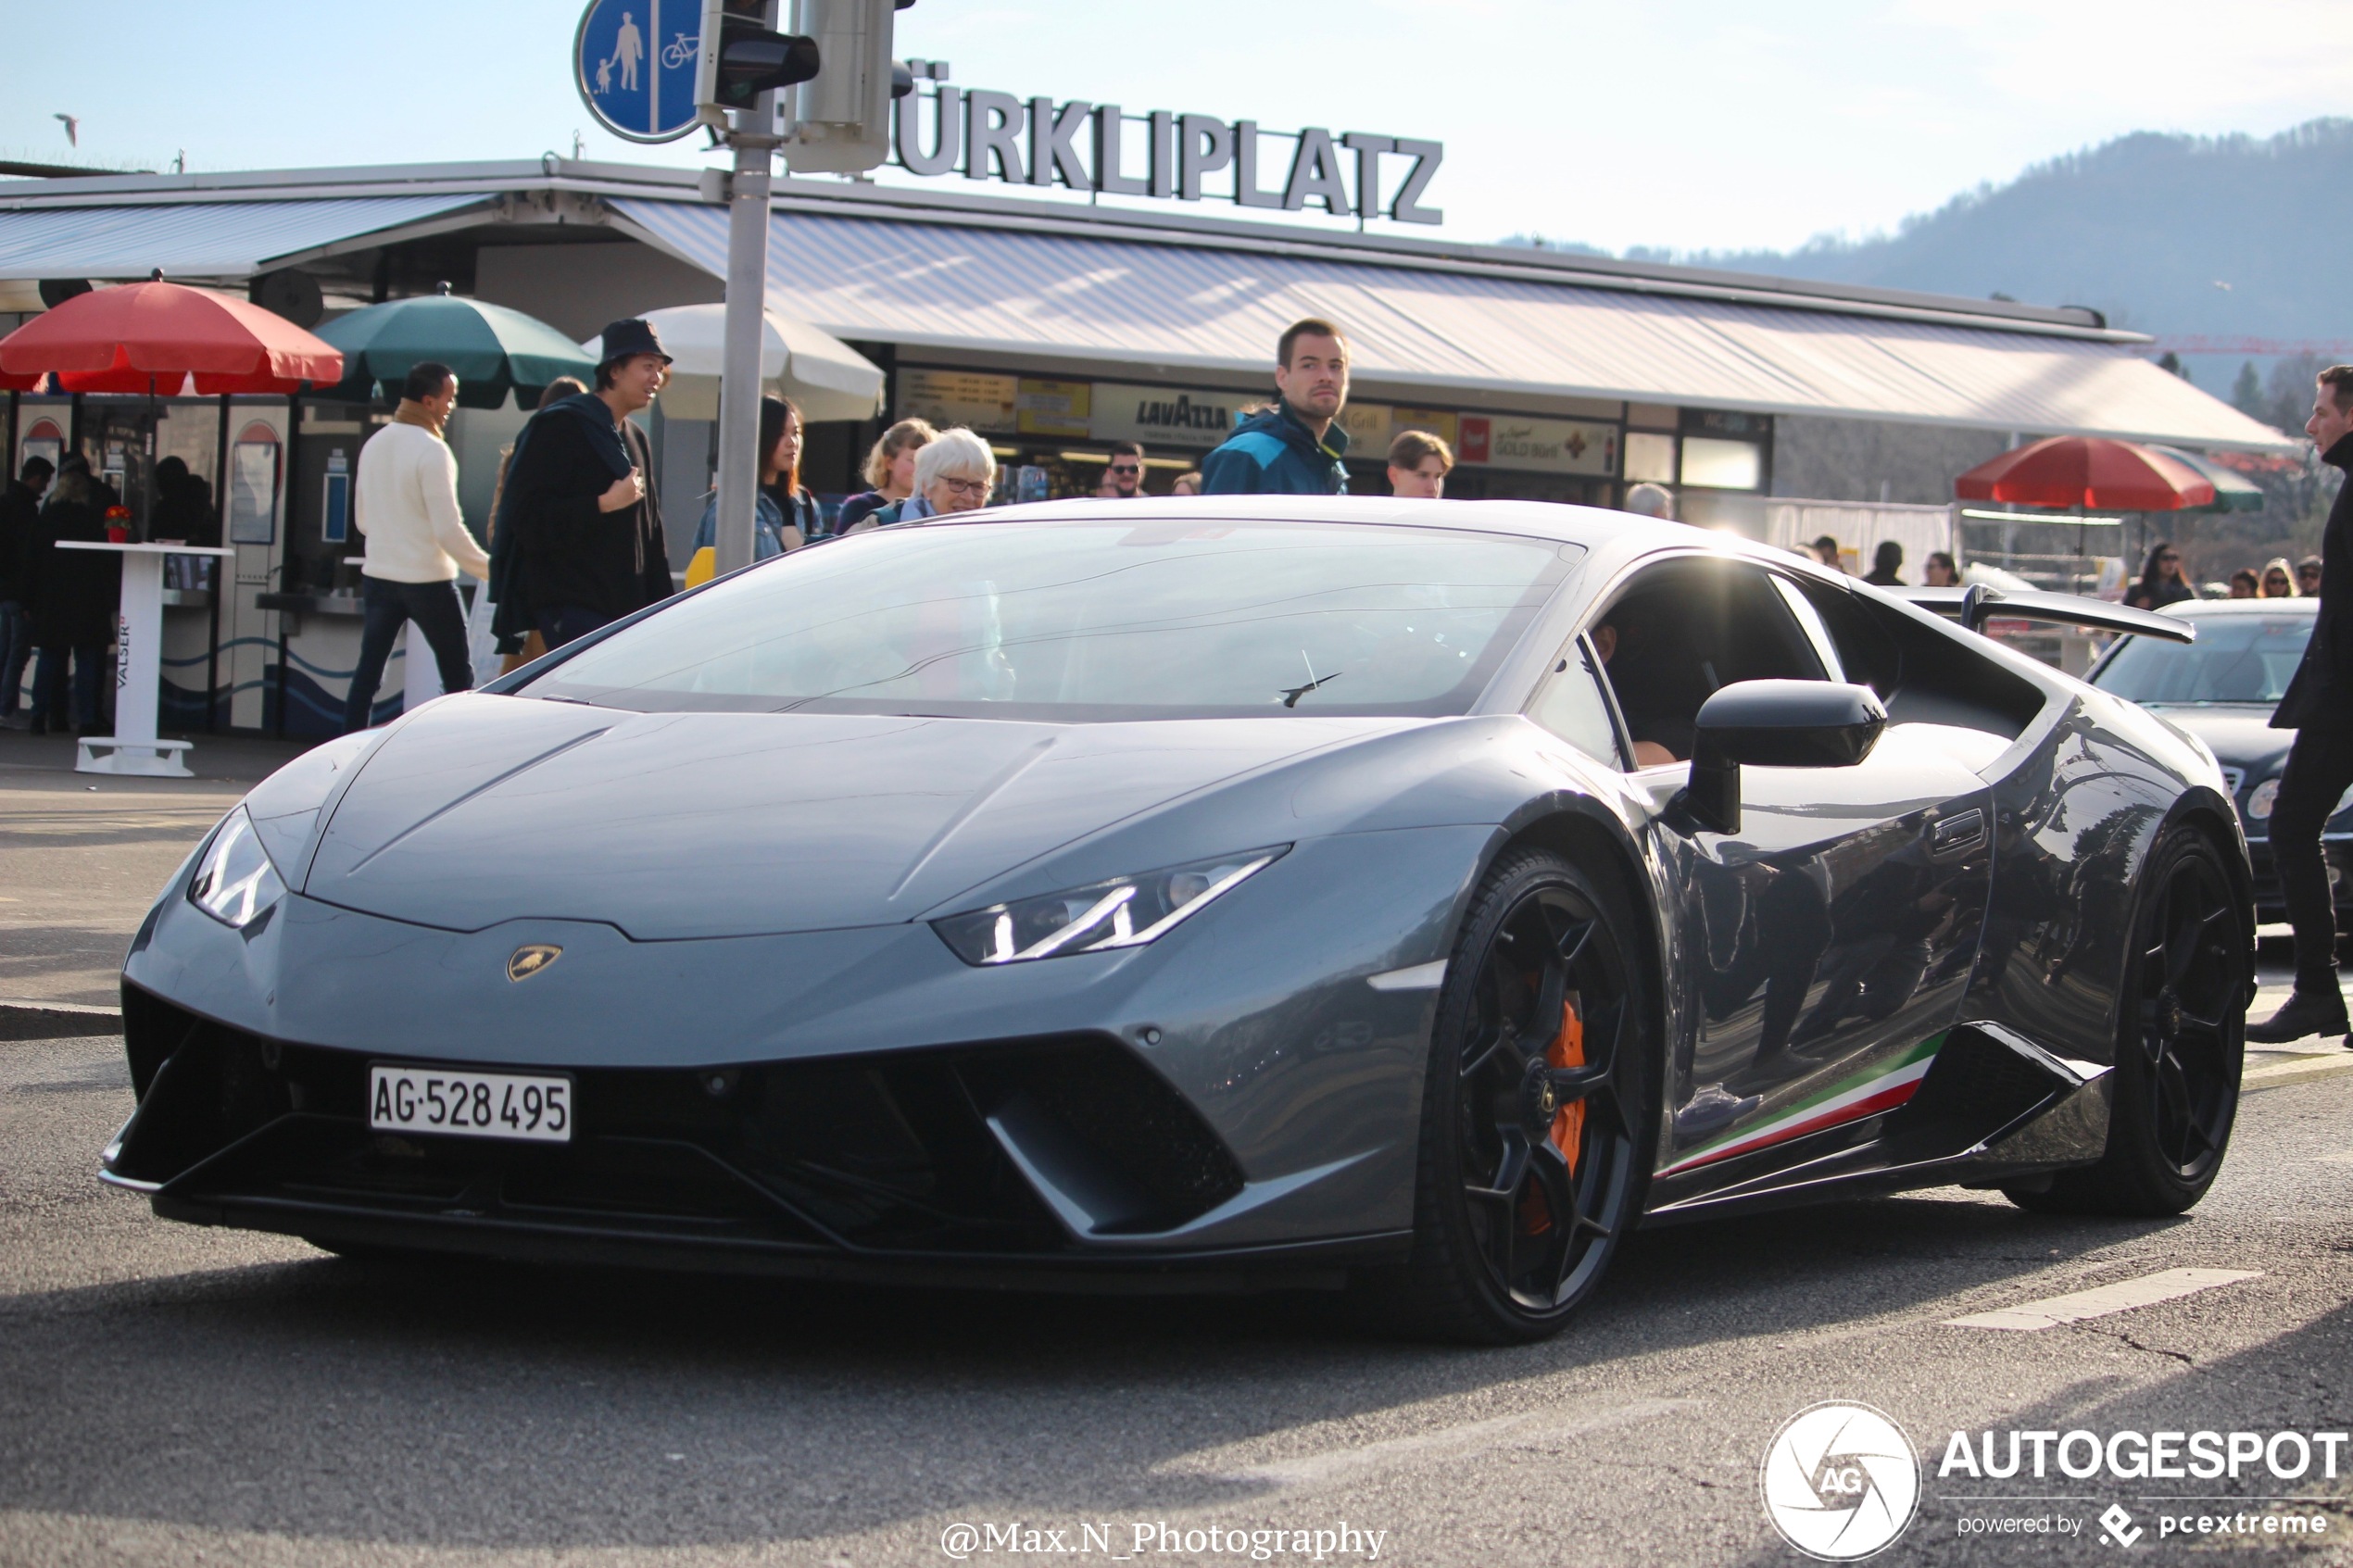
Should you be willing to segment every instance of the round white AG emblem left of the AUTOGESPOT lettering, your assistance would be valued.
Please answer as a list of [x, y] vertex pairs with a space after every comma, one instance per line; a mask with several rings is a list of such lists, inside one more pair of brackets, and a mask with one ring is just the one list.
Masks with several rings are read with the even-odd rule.
[[1781, 1422], [1758, 1488], [1781, 1540], [1826, 1563], [1852, 1563], [1911, 1523], [1920, 1455], [1885, 1410], [1824, 1401]]

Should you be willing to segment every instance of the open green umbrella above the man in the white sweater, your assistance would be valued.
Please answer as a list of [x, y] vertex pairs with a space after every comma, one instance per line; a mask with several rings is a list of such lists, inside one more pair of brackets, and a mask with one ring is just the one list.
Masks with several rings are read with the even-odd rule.
[[588, 381], [595, 374], [579, 343], [539, 317], [459, 299], [449, 284], [440, 294], [353, 310], [320, 327], [318, 336], [344, 350], [344, 383], [332, 395], [346, 402], [372, 402], [374, 383], [398, 390], [424, 360], [456, 371], [464, 409], [496, 409], [508, 393], [529, 407], [548, 381]]

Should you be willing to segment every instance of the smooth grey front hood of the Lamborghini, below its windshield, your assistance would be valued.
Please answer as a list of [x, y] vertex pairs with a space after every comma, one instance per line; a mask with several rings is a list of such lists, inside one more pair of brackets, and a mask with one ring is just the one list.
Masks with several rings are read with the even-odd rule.
[[1412, 724], [638, 715], [454, 696], [367, 757], [301, 889], [449, 931], [892, 924], [1139, 811]]

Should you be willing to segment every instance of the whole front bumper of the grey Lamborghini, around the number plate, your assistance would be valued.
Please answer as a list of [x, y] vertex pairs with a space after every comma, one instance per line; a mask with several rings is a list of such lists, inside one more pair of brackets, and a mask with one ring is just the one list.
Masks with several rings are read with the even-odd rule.
[[[1445, 954], [1487, 832], [1304, 842], [1151, 947], [1002, 969], [925, 926], [633, 943], [287, 896], [240, 933], [167, 893], [125, 966], [141, 1103], [106, 1173], [167, 1218], [546, 1260], [1028, 1284], [1391, 1260], [1435, 992], [1365, 978]], [[565, 952], [508, 980], [525, 943]], [[372, 1133], [372, 1060], [569, 1072], [576, 1140]]]

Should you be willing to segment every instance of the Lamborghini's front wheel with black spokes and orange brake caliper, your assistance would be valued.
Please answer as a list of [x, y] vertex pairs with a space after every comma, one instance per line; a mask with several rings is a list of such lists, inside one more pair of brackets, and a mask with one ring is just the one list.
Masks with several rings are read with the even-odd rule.
[[1438, 999], [1421, 1105], [1409, 1328], [1558, 1333], [1640, 1213], [1649, 1013], [1633, 910], [1567, 858], [1506, 853]]

